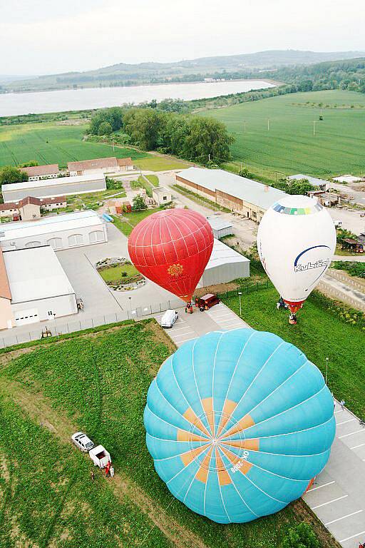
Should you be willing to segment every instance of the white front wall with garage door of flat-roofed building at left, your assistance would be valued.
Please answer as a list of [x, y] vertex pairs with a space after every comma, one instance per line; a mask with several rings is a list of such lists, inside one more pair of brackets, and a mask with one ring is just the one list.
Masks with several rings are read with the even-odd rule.
[[50, 324], [46, 324], [48, 328], [54, 327], [53, 314], [56, 314], [57, 322], [57, 318], [78, 313], [75, 293], [16, 303], [11, 305], [11, 311], [14, 315], [15, 325], [27, 325], [49, 320]]

